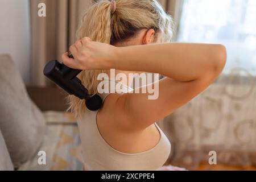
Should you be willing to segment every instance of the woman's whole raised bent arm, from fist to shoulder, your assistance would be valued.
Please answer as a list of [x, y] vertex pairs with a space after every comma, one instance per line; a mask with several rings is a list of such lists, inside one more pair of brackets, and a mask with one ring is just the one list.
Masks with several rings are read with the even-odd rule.
[[75, 61], [67, 54], [63, 61], [77, 69], [115, 68], [167, 76], [159, 81], [156, 100], [148, 100], [149, 93], [112, 96], [115, 102], [109, 103], [106, 110], [113, 115], [112, 121], [127, 130], [144, 129], [192, 100], [216, 80], [226, 61], [225, 47], [215, 44], [113, 47], [84, 39], [72, 47], [72, 53]]

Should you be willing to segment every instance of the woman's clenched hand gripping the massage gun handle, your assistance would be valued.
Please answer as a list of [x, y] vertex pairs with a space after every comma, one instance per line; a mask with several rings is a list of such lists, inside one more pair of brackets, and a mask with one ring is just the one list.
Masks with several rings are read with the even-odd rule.
[[109, 69], [114, 50], [115, 47], [109, 44], [82, 38], [69, 48], [75, 60], [68, 57], [68, 52], [62, 55], [62, 59], [65, 65], [74, 69]]

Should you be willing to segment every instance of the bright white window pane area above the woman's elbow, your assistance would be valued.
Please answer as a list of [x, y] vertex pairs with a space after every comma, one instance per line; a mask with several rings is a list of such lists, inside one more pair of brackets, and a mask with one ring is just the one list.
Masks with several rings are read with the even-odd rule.
[[224, 44], [224, 70], [245, 68], [256, 76], [256, 1], [184, 0], [179, 42]]

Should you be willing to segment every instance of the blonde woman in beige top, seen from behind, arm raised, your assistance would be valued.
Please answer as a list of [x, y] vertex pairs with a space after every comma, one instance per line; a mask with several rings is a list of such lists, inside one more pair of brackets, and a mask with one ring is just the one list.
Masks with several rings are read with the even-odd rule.
[[[76, 114], [88, 170], [168, 170], [163, 167], [171, 145], [156, 121], [205, 90], [221, 73], [225, 47], [170, 43], [172, 19], [156, 0], [102, 0], [86, 11], [79, 40], [64, 53], [64, 64], [84, 70], [80, 79], [97, 94], [100, 73], [160, 73], [159, 97], [149, 93], [100, 94], [104, 104], [89, 111], [69, 97]], [[108, 80], [113, 81], [113, 80]], [[115, 80], [114, 80], [115, 81]], [[116, 82], [116, 81], [115, 81]], [[128, 90], [130, 85], [124, 85]], [[182, 129], [181, 129], [182, 130]], [[172, 169], [172, 168], [171, 168]]]

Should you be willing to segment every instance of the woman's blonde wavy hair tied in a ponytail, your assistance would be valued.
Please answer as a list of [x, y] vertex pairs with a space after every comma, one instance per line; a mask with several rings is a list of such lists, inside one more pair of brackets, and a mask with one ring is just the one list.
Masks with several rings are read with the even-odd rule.
[[[114, 1], [114, 0], [113, 0]], [[161, 33], [162, 42], [171, 42], [172, 18], [156, 0], [99, 0], [86, 10], [77, 38], [89, 37], [95, 42], [114, 44], [133, 38], [139, 30], [147, 28]], [[105, 70], [86, 70], [79, 75], [89, 94], [97, 94], [97, 76]], [[86, 111], [85, 101], [68, 96], [69, 110], [76, 117]]]

